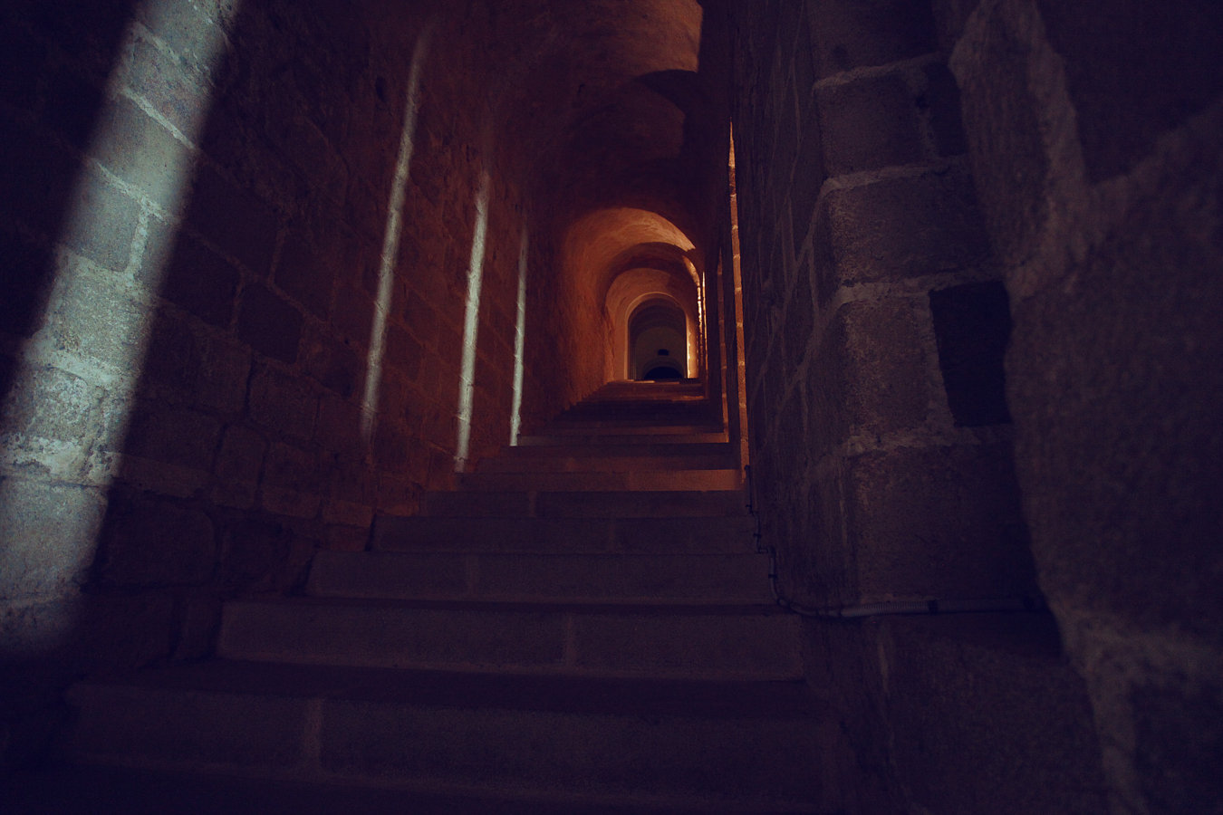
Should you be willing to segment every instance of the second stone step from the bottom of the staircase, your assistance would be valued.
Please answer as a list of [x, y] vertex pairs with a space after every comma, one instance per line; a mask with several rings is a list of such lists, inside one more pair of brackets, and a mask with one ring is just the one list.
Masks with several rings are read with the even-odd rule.
[[567, 676], [801, 676], [797, 617], [775, 605], [339, 599], [225, 604], [232, 660]]

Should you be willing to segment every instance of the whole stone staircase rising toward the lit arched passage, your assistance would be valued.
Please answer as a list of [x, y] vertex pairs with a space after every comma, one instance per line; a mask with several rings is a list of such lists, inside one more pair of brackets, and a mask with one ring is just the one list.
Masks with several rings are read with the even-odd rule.
[[751, 530], [697, 386], [610, 384], [215, 660], [72, 688], [75, 794], [122, 802], [81, 811], [828, 811]]

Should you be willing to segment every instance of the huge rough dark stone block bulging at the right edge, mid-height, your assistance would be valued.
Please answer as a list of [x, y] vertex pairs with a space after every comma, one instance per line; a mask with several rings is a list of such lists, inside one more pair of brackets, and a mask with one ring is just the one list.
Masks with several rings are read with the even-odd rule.
[[1051, 598], [1223, 641], [1217, 139], [1181, 161], [1073, 266], [1073, 287], [1016, 304], [1008, 400]]

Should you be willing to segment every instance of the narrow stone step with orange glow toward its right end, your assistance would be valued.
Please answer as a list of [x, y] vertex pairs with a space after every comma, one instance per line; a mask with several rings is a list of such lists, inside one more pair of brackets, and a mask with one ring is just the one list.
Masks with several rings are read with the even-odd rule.
[[598, 491], [667, 491], [667, 490], [737, 490], [744, 478], [739, 468], [725, 469], [624, 469], [616, 472], [531, 472], [531, 473], [466, 473], [460, 479], [462, 490], [589, 492]]

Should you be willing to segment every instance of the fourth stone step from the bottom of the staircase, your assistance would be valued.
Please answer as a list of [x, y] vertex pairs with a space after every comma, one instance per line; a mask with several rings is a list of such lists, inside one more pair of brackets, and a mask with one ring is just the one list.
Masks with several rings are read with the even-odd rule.
[[756, 522], [741, 500], [731, 516], [660, 518], [395, 517], [374, 519], [380, 551], [638, 552], [653, 555], [752, 552]]

